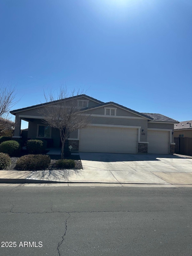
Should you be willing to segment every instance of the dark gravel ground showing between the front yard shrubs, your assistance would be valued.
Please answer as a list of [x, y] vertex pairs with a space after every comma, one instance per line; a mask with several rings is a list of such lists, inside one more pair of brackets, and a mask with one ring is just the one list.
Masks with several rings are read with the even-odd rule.
[[[49, 165], [49, 168], [47, 168], [45, 170], [56, 170], [57, 168], [55, 167], [55, 162], [56, 162], [56, 160], [61, 159], [61, 155], [49, 155], [49, 156], [51, 158], [51, 163]], [[11, 164], [3, 170], [15, 171], [16, 170], [15, 164], [18, 159], [19, 159], [19, 157], [11, 157]], [[73, 168], [73, 170], [83, 169], [79, 155], [71, 155], [70, 157], [67, 157], [66, 159], [73, 159], [75, 161], [75, 167]]]

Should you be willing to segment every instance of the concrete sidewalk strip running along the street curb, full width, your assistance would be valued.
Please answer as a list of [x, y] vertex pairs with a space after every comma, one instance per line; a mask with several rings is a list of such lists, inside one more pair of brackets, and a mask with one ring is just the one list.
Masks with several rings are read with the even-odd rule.
[[192, 173], [110, 170], [0, 171], [0, 183], [192, 185]]

